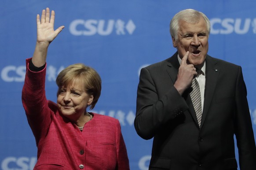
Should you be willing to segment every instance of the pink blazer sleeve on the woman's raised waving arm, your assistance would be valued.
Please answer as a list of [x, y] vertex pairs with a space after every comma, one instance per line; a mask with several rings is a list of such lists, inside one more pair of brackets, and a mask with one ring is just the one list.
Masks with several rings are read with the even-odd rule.
[[22, 89], [22, 104], [26, 112], [29, 126], [33, 131], [38, 145], [48, 131], [51, 122], [51, 110], [45, 96], [46, 68], [42, 71], [29, 70], [29, 61], [26, 60], [26, 76]]

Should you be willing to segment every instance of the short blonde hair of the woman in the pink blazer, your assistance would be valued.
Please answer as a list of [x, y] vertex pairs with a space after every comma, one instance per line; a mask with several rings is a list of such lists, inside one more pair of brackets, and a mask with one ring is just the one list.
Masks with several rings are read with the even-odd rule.
[[60, 89], [62, 86], [70, 85], [70, 83], [73, 83], [75, 80], [78, 80], [84, 85], [84, 91], [88, 95], [93, 96], [90, 105], [90, 109], [93, 109], [101, 93], [101, 78], [99, 74], [93, 68], [85, 66], [84, 64], [72, 64], [59, 73], [56, 78], [56, 84]]

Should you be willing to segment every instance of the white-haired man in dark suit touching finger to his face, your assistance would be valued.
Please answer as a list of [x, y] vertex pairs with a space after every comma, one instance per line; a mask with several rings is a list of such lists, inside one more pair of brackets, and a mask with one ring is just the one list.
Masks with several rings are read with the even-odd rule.
[[235, 134], [240, 170], [256, 170], [241, 67], [207, 54], [210, 21], [199, 11], [177, 13], [170, 32], [177, 52], [143, 68], [137, 91], [135, 129], [154, 137], [149, 169], [237, 170]]

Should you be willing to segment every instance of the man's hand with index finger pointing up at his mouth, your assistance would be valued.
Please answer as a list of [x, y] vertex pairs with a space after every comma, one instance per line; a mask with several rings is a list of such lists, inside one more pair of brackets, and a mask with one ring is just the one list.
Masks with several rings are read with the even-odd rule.
[[178, 90], [179, 94], [182, 95], [183, 92], [190, 87], [192, 79], [197, 75], [196, 68], [193, 64], [187, 64], [187, 57], [189, 52], [184, 55], [179, 66], [179, 72], [177, 75], [177, 80], [174, 83], [174, 87]]

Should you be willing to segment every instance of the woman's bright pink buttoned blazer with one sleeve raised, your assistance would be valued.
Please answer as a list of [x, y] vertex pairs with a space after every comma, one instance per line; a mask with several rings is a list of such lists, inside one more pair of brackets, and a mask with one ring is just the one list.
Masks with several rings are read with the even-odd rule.
[[22, 103], [37, 143], [35, 170], [129, 170], [120, 123], [113, 117], [91, 113], [93, 119], [81, 132], [62, 116], [57, 105], [45, 96], [46, 68], [30, 71]]

